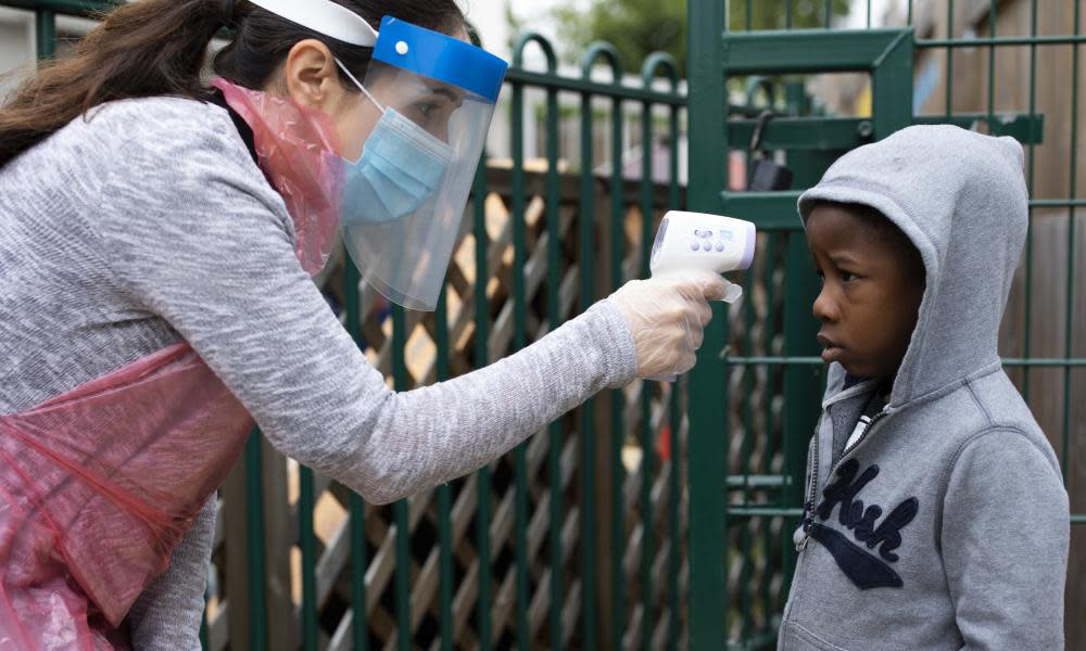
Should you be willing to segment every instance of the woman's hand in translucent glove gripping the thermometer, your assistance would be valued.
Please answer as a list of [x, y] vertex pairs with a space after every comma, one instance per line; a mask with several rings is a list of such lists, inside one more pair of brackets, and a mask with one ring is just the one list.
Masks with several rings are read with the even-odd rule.
[[637, 349], [637, 376], [673, 381], [694, 367], [709, 301], [734, 303], [743, 289], [716, 273], [673, 273], [631, 280], [608, 297], [626, 319]]

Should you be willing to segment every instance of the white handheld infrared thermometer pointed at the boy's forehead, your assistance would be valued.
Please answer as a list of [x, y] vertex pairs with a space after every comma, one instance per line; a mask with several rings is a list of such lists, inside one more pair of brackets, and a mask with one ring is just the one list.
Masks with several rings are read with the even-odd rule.
[[[758, 231], [743, 219], [670, 210], [664, 216], [653, 243], [649, 268], [653, 276], [683, 271], [724, 273], [750, 268]], [[724, 301], [743, 294], [738, 285], [729, 288]]]

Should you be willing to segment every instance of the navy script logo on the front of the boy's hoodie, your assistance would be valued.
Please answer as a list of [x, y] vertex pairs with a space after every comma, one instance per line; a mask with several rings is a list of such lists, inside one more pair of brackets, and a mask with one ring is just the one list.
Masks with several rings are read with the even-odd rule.
[[864, 551], [841, 532], [818, 523], [810, 525], [810, 536], [825, 546], [842, 572], [861, 590], [900, 588], [904, 585], [901, 577], [889, 564], [897, 562], [898, 556], [894, 550], [901, 546], [901, 529], [912, 522], [920, 502], [915, 497], [906, 499], [875, 526], [875, 521], [883, 513], [882, 507], [871, 505], [864, 508], [856, 496], [879, 475], [879, 465], [872, 464], [862, 473], [859, 470], [860, 463], [856, 459], [843, 463], [836, 472], [837, 481], [822, 492], [822, 503], [816, 513], [820, 519], [828, 520], [833, 508], [839, 505], [837, 520], [841, 524], [853, 529], [853, 536], [868, 549], [879, 546], [879, 556]]

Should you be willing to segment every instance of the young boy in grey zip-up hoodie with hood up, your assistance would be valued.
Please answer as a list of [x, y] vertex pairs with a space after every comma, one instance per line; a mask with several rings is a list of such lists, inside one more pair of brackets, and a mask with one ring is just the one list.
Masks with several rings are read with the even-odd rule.
[[1068, 495], [996, 353], [1022, 161], [912, 127], [799, 200], [831, 366], [781, 650], [1063, 648]]

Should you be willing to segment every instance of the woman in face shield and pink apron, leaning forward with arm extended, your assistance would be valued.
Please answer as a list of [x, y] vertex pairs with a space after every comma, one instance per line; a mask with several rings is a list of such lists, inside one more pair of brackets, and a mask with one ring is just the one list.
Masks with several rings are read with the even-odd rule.
[[466, 39], [453, 0], [142, 0], [0, 107], [13, 648], [198, 648], [209, 497], [253, 420], [382, 503], [693, 366], [715, 276], [633, 281], [405, 393], [328, 309], [311, 275], [338, 232], [366, 282], [432, 308], [505, 72]]

